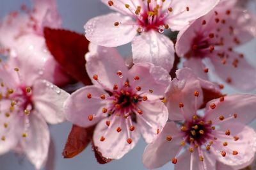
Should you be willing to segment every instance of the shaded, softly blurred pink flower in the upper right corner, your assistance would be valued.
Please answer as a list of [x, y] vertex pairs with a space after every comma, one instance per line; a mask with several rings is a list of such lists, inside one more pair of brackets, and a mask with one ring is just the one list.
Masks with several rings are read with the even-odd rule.
[[[208, 72], [238, 89], [256, 87], [256, 70], [234, 48], [256, 36], [256, 17], [234, 7], [217, 6], [180, 31], [176, 43], [178, 56], [186, 58], [184, 66], [193, 69], [202, 79]], [[250, 83], [244, 83], [250, 80]]]

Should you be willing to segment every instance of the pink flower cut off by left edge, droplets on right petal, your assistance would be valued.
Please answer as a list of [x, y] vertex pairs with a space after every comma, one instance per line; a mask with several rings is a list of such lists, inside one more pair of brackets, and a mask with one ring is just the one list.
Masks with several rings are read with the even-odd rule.
[[0, 154], [19, 148], [19, 153], [26, 155], [36, 169], [47, 159], [47, 123], [65, 120], [63, 103], [69, 96], [50, 82], [40, 80], [38, 69], [42, 64], [29, 56], [0, 63]]

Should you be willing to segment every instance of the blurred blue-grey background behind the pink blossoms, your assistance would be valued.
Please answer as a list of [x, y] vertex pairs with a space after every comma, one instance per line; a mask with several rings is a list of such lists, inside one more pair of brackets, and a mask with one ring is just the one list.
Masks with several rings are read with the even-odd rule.
[[[241, 4], [245, 4], [245, 0], [240, 0]], [[254, 0], [253, 0], [254, 1]], [[247, 4], [247, 8], [256, 13], [255, 1]], [[84, 24], [97, 15], [110, 12], [108, 6], [100, 3], [100, 0], [57, 0], [58, 10], [63, 20], [63, 27], [79, 33], [84, 33]], [[19, 10], [20, 4], [26, 4], [30, 6], [29, 0], [1, 0], [0, 1], [0, 17], [3, 18], [8, 12], [13, 10]], [[118, 47], [120, 52], [124, 56], [131, 55], [131, 45], [124, 45]], [[246, 54], [246, 58], [250, 60], [250, 63], [256, 67], [256, 40], [239, 47], [239, 51]], [[246, 83], [246, 82], [244, 82]], [[232, 88], [226, 88], [225, 93], [236, 93], [237, 91]], [[255, 93], [253, 91], [252, 93]], [[256, 114], [256, 111], [255, 111]], [[256, 128], [256, 123], [252, 123], [252, 126]], [[51, 135], [56, 145], [56, 170], [86, 170], [86, 169], [145, 169], [141, 163], [143, 150], [146, 146], [143, 139], [136, 145], [134, 150], [130, 151], [120, 160], [114, 160], [108, 164], [100, 165], [97, 163], [92, 148], [88, 146], [83, 153], [77, 155], [72, 159], [64, 159], [61, 156], [63, 147], [65, 145], [67, 135], [70, 131], [71, 124], [63, 123], [61, 125], [55, 125], [50, 127]], [[0, 170], [33, 170], [34, 167], [26, 160], [26, 158], [19, 157], [14, 153], [7, 153], [0, 156]], [[172, 170], [172, 163], [166, 164], [160, 169]], [[185, 170], [185, 169], [184, 169]]]

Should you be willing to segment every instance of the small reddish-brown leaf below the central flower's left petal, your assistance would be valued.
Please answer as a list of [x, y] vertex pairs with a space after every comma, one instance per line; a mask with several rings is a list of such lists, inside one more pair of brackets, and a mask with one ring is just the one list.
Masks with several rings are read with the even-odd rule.
[[72, 158], [81, 153], [92, 141], [94, 129], [95, 126], [83, 128], [73, 125], [62, 153], [63, 157]]

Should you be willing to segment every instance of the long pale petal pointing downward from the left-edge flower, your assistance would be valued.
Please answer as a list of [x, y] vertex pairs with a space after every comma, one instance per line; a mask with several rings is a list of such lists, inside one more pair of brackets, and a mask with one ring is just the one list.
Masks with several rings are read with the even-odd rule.
[[47, 160], [50, 134], [47, 123], [37, 112], [31, 112], [29, 115], [27, 135], [20, 140], [22, 150], [35, 168], [40, 169]]

